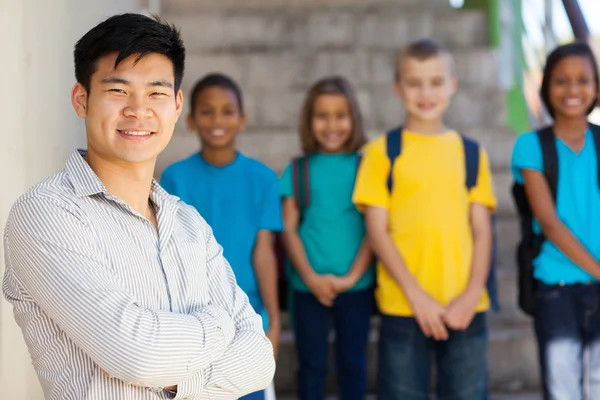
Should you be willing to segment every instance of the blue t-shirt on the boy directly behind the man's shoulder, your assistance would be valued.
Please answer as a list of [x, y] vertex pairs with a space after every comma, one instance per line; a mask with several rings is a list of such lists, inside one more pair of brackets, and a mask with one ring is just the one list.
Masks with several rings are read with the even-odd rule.
[[166, 168], [160, 183], [206, 219], [238, 285], [266, 323], [252, 254], [258, 231], [283, 229], [277, 174], [241, 153], [222, 167], [196, 153]]

